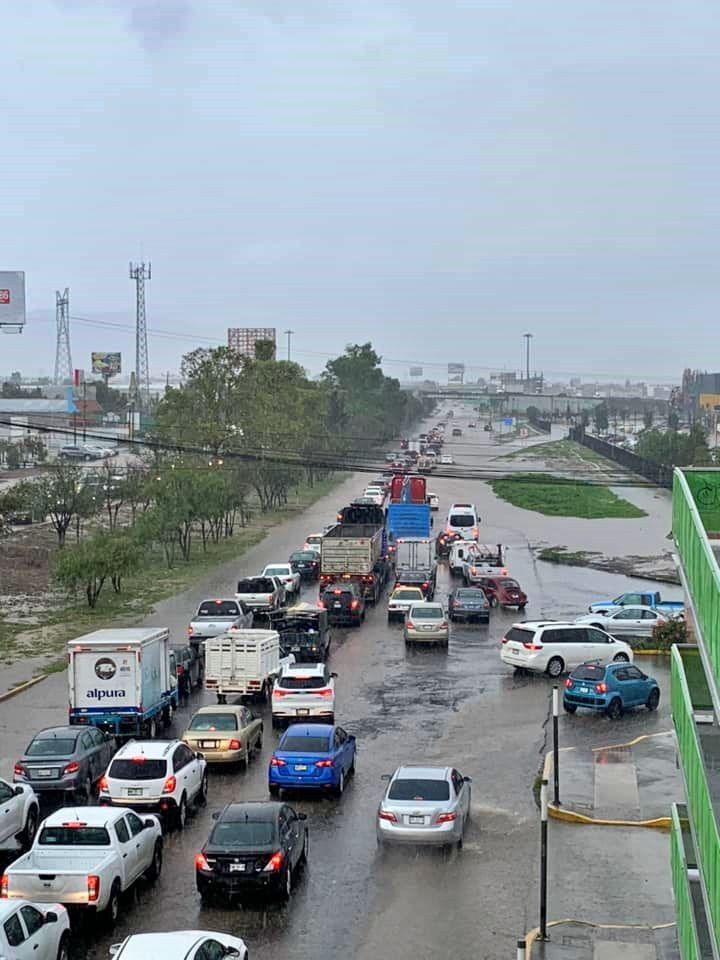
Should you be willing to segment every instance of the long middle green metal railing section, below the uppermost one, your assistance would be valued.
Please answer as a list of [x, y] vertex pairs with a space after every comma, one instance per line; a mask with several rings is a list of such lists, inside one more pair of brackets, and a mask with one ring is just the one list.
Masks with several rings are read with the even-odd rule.
[[677, 647], [672, 648], [671, 701], [698, 866], [710, 904], [708, 919], [715, 931], [716, 943], [720, 944], [720, 832], [712, 806], [685, 668]]

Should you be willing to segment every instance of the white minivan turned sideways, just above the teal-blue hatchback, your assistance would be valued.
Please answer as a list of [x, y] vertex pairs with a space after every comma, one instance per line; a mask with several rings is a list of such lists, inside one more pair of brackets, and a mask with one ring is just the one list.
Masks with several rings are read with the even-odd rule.
[[500, 659], [515, 669], [536, 670], [559, 677], [581, 663], [597, 660], [632, 662], [627, 643], [597, 627], [557, 620], [526, 620], [514, 623], [503, 637]]

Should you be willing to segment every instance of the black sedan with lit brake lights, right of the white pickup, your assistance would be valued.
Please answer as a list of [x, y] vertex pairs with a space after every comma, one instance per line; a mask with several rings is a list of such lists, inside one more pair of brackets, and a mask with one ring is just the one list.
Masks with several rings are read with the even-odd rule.
[[229, 803], [213, 819], [215, 826], [195, 857], [203, 903], [253, 893], [289, 900], [307, 862], [306, 815], [286, 803], [251, 800]]

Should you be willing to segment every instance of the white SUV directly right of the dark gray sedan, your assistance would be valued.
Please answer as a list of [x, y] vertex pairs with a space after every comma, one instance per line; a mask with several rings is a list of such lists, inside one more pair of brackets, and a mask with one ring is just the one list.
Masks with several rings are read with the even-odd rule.
[[207, 763], [182, 740], [130, 740], [101, 777], [100, 803], [157, 812], [184, 827], [188, 806], [207, 799]]

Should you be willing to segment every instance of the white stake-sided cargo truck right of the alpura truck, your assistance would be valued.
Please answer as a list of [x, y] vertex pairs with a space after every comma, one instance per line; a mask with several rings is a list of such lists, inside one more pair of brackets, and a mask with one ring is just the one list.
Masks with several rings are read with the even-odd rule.
[[218, 703], [228, 694], [267, 700], [282, 668], [294, 662], [280, 656], [277, 630], [228, 630], [205, 641], [205, 688]]

